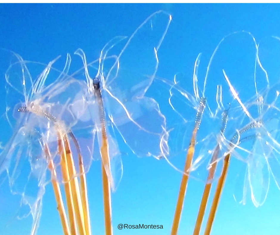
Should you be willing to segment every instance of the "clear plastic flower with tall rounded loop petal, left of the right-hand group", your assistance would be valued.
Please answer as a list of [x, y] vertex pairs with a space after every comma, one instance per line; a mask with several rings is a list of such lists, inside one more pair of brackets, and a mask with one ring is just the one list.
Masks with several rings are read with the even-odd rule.
[[[207, 58], [199, 54], [193, 74], [177, 74], [173, 82], [163, 81], [170, 86], [169, 104], [173, 110], [171, 114], [164, 113], [169, 135], [169, 149], [164, 155], [174, 168], [183, 172], [193, 131], [199, 123], [195, 134], [193, 162], [187, 174], [209, 181], [208, 170], [214, 163], [218, 164], [213, 179], [219, 177], [219, 162], [228, 151], [228, 142], [236, 130], [241, 128], [240, 119], [245, 112], [232, 95], [223, 71], [236, 78], [231, 80], [231, 87], [237, 92], [238, 98], [244, 101], [255, 96], [259, 90], [266, 89], [268, 78], [259, 62], [256, 40], [248, 32], [226, 36], [215, 48], [208, 64], [205, 60]], [[206, 67], [205, 75], [200, 72], [202, 66]], [[258, 76], [255, 76], [256, 68], [259, 69]], [[240, 84], [240, 80], [248, 85]]]

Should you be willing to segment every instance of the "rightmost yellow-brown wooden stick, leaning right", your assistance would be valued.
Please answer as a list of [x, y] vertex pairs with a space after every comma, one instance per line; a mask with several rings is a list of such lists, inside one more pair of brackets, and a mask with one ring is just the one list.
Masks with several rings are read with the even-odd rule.
[[230, 154], [227, 154], [225, 156], [225, 159], [224, 159], [224, 166], [223, 166], [222, 175], [221, 175], [220, 179], [218, 180], [216, 192], [215, 192], [213, 202], [212, 202], [212, 205], [211, 205], [211, 209], [210, 209], [209, 217], [208, 217], [208, 220], [207, 220], [204, 235], [209, 235], [210, 232], [211, 232], [212, 224], [213, 224], [213, 221], [214, 221], [214, 217], [215, 217], [215, 214], [216, 214], [216, 211], [217, 211], [220, 196], [221, 196], [223, 186], [224, 186], [224, 183], [225, 183], [225, 178], [226, 178], [226, 175], [227, 175], [227, 172], [228, 172], [229, 161], [230, 161]]

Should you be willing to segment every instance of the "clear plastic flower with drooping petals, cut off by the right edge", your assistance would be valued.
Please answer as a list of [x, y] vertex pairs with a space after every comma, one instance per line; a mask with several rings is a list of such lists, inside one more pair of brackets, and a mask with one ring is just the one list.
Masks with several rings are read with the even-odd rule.
[[[239, 143], [233, 155], [244, 162], [235, 189], [235, 199], [245, 204], [251, 193], [253, 204], [263, 205], [271, 179], [279, 187], [279, 85], [267, 89], [248, 111], [261, 104], [258, 118], [239, 130]], [[273, 98], [273, 99], [272, 99]], [[265, 103], [269, 102], [269, 103]], [[244, 119], [244, 121], [247, 118]], [[248, 119], [247, 119], [248, 122]], [[243, 190], [240, 187], [243, 185]]]

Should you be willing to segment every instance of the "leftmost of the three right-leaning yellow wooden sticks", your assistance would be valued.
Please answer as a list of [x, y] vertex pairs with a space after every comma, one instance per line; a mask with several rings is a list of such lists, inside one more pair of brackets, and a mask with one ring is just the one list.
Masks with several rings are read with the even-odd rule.
[[[195, 152], [196, 133], [197, 133], [197, 126], [195, 127], [194, 131], [192, 132], [192, 139], [191, 139], [191, 143], [189, 145], [189, 149], [188, 149], [187, 156], [186, 156], [184, 173], [187, 173], [187, 170], [192, 165], [192, 158], [193, 158], [193, 155]], [[184, 203], [184, 199], [185, 199], [188, 179], [189, 179], [189, 176], [187, 174], [183, 174], [181, 186], [180, 186], [180, 190], [179, 190], [179, 196], [178, 196], [178, 200], [177, 200], [177, 205], [176, 205], [176, 209], [175, 209], [175, 215], [174, 215], [174, 219], [173, 219], [173, 225], [172, 225], [172, 229], [171, 229], [171, 235], [176, 235], [178, 232], [178, 227], [179, 227], [179, 222], [180, 222], [181, 213], [182, 213], [182, 209], [183, 209], [183, 203]]]

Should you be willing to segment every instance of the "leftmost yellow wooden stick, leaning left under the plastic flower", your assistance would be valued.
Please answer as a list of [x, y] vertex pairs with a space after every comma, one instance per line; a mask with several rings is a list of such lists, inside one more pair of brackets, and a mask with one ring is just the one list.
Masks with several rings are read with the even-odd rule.
[[60, 186], [59, 183], [56, 180], [56, 171], [55, 171], [55, 166], [53, 163], [53, 160], [50, 158], [51, 154], [49, 151], [49, 147], [47, 144], [45, 144], [45, 154], [48, 160], [48, 167], [49, 170], [52, 172], [52, 186], [55, 192], [55, 199], [57, 202], [57, 210], [58, 213], [60, 215], [60, 220], [61, 220], [61, 225], [63, 228], [63, 233], [64, 235], [70, 235], [70, 230], [69, 230], [69, 225], [68, 225], [68, 221], [67, 221], [67, 216], [66, 216], [66, 212], [65, 212], [65, 207], [63, 204], [63, 200], [62, 200], [62, 195], [61, 195], [61, 191], [60, 191]]

